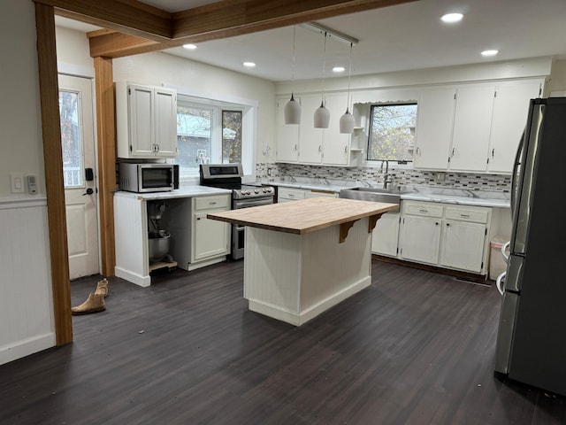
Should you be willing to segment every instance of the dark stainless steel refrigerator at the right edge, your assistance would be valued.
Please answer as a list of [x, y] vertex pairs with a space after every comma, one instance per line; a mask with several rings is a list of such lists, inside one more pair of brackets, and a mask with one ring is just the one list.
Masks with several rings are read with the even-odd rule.
[[566, 97], [532, 99], [513, 173], [495, 370], [566, 395]]

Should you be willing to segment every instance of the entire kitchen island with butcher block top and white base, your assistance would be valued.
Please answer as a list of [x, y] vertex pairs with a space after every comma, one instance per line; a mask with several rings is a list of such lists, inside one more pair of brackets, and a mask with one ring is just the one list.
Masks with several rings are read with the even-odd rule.
[[316, 197], [207, 217], [247, 227], [249, 309], [300, 326], [371, 284], [371, 232], [398, 206]]

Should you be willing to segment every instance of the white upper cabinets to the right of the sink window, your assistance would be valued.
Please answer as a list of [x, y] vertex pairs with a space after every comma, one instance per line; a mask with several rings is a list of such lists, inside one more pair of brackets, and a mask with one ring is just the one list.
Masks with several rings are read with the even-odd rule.
[[542, 79], [424, 89], [418, 101], [415, 168], [509, 174]]

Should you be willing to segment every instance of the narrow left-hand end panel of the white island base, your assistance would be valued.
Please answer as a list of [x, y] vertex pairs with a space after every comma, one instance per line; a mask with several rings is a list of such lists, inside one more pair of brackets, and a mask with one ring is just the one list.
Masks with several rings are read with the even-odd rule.
[[257, 313], [298, 324], [302, 236], [246, 228], [244, 298]]

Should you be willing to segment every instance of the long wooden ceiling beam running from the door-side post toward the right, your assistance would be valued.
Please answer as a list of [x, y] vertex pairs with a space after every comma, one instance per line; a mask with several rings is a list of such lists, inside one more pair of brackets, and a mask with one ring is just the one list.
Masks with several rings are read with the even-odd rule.
[[90, 56], [121, 58], [179, 47], [187, 42], [205, 42], [246, 35], [414, 1], [419, 0], [223, 0], [172, 13], [172, 35], [166, 40], [140, 35], [138, 30], [132, 28], [120, 29], [120, 33], [91, 33], [88, 35]]

